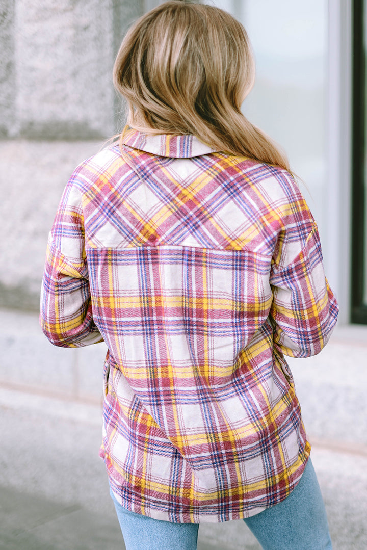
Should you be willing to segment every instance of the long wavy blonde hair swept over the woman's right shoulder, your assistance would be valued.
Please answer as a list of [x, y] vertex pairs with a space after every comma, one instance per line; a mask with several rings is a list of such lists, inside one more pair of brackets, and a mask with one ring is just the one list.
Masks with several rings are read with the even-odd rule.
[[178, 0], [130, 27], [113, 68], [130, 127], [192, 134], [218, 151], [289, 170], [286, 155], [240, 111], [254, 79], [244, 27], [221, 9]]

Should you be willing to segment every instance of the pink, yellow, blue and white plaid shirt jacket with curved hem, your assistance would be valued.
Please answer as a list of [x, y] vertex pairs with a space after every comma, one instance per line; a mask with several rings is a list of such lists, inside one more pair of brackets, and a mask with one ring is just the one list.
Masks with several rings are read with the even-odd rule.
[[286, 498], [310, 444], [284, 354], [319, 353], [337, 313], [283, 169], [129, 130], [65, 188], [41, 324], [108, 346], [100, 454], [129, 510], [218, 522]]

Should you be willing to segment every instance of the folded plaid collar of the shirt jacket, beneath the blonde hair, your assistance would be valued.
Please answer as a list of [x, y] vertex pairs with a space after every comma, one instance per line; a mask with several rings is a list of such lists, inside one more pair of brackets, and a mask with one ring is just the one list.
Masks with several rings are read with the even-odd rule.
[[127, 130], [122, 143], [153, 155], [171, 158], [199, 157], [217, 151], [193, 135], [150, 135], [134, 129]]

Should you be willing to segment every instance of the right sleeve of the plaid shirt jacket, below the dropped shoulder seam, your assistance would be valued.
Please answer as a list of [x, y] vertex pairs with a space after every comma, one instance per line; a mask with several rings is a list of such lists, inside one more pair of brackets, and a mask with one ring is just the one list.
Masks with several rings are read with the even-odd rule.
[[[310, 215], [311, 216], [311, 215]], [[292, 357], [316, 355], [325, 346], [338, 316], [338, 305], [325, 278], [319, 233], [312, 220], [311, 232], [298, 241], [284, 240], [281, 257], [299, 250], [292, 261], [273, 262], [270, 284], [273, 301], [270, 321], [273, 343]], [[287, 250], [289, 249], [289, 250]]]

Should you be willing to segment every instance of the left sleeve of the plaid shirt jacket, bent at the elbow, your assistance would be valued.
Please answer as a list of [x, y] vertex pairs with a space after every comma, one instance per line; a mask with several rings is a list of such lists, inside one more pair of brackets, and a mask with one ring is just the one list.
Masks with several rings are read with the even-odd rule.
[[68, 348], [103, 340], [92, 316], [83, 208], [74, 179], [65, 188], [48, 238], [40, 313], [48, 340]]

